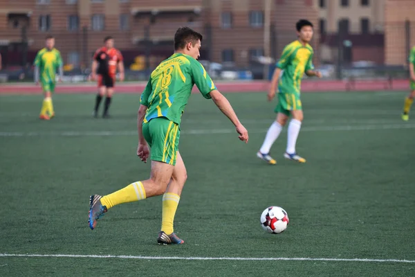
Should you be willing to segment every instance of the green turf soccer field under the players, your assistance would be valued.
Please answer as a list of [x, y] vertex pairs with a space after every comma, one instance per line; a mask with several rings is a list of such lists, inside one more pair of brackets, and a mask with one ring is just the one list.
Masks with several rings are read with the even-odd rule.
[[[277, 166], [255, 156], [274, 118], [265, 93], [226, 95], [248, 145], [192, 96], [175, 222], [186, 243], [168, 247], [156, 244], [160, 197], [87, 224], [89, 195], [149, 176], [136, 157], [138, 95], [116, 95], [109, 120], [91, 117], [93, 95], [57, 95], [48, 122], [37, 119], [41, 96], [0, 96], [0, 276], [415, 276], [415, 118], [400, 120], [404, 95], [305, 93], [297, 152], [308, 162], [284, 160], [283, 132]], [[290, 217], [281, 235], [259, 224], [271, 205]]]

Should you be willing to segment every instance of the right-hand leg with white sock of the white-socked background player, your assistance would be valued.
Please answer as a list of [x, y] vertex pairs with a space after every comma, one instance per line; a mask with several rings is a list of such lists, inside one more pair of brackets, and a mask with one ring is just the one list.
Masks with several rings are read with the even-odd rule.
[[[299, 129], [301, 129], [304, 114], [301, 109], [297, 109], [292, 110], [291, 115], [293, 116], [293, 118], [291, 119], [290, 124], [288, 125], [287, 149], [284, 153], [284, 157], [286, 159], [298, 161], [299, 163], [305, 163], [306, 159], [299, 157], [299, 155], [297, 155], [297, 152], [295, 151], [295, 145], [297, 144]], [[288, 120], [288, 117], [286, 119]]]

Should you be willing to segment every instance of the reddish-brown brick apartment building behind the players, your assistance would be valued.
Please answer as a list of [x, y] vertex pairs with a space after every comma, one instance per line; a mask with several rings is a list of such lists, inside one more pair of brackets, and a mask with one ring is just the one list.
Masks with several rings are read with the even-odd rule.
[[[318, 17], [317, 0], [3, 0], [0, 51], [4, 62], [19, 64], [27, 42], [30, 63], [44, 37], [54, 35], [66, 64], [87, 66], [112, 35], [129, 63], [136, 55], [169, 55], [174, 31], [190, 26], [205, 35], [202, 58], [248, 66], [265, 52], [278, 57], [296, 38], [299, 18], [318, 28]], [[316, 32], [316, 50], [318, 42]]]

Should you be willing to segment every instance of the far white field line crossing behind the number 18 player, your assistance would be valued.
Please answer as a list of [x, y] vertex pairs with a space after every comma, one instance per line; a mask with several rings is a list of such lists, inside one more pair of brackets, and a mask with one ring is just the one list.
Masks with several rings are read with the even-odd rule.
[[[369, 131], [378, 129], [415, 129], [414, 124], [386, 124], [386, 125], [343, 125], [303, 127], [301, 132], [327, 131]], [[266, 129], [248, 129], [250, 134], [266, 132]], [[234, 129], [190, 129], [183, 130], [181, 135], [197, 134], [234, 134]], [[62, 132], [0, 132], [0, 137], [19, 136], [136, 136], [137, 131], [62, 131]]]

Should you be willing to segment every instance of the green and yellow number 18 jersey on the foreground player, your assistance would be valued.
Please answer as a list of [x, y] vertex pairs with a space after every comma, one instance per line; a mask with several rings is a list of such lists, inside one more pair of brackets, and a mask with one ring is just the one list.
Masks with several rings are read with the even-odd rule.
[[140, 98], [140, 103], [147, 106], [144, 123], [165, 117], [179, 125], [194, 84], [207, 99], [216, 89], [202, 64], [189, 55], [175, 53], [161, 62]]

